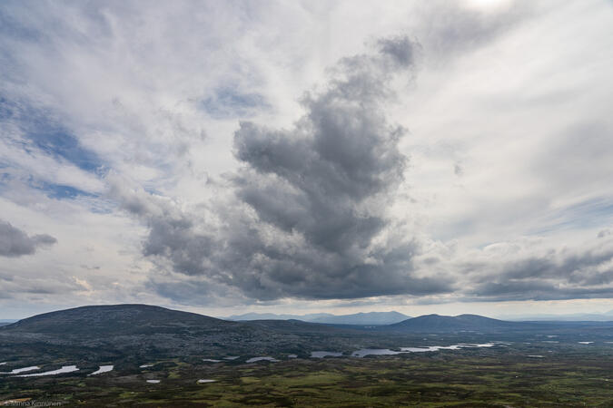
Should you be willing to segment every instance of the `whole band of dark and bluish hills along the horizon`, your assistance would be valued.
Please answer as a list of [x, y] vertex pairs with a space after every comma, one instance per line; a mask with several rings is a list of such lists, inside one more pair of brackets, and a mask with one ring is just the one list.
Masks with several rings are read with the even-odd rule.
[[[295, 317], [318, 319], [324, 324]], [[188, 355], [221, 358], [281, 353], [306, 357], [313, 350], [415, 344], [422, 342], [424, 335], [433, 334], [467, 339], [491, 334], [525, 339], [531, 335], [540, 339], [548, 338], [546, 335], [584, 338], [588, 333], [590, 341], [595, 336], [613, 338], [613, 321], [509, 322], [477, 315], [406, 317], [397, 312], [346, 316], [252, 314], [232, 318], [256, 320], [228, 321], [159, 306], [83, 306], [0, 326], [0, 348], [4, 355], [95, 357], [136, 364]]]

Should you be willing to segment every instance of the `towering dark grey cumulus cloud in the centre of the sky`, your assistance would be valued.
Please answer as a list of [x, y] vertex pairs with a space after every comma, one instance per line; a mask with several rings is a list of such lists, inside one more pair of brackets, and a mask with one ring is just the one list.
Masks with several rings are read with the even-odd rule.
[[255, 299], [449, 291], [413, 275], [418, 248], [387, 214], [407, 158], [398, 149], [405, 131], [384, 108], [392, 80], [412, 72], [417, 47], [396, 37], [342, 59], [321, 90], [303, 97], [306, 113], [290, 130], [243, 121], [229, 201], [188, 214], [116, 188], [149, 223], [145, 255]]

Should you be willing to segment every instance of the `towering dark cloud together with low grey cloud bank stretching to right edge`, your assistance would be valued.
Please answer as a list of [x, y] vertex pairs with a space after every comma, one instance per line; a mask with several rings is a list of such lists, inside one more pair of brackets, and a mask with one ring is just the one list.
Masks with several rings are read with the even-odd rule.
[[420, 46], [407, 37], [373, 44], [373, 53], [342, 59], [327, 83], [305, 93], [305, 114], [291, 128], [240, 122], [233, 153], [241, 166], [205, 187], [219, 188], [214, 199], [186, 207], [107, 179], [148, 226], [143, 255], [158, 268], [149, 287], [193, 304], [223, 296], [613, 296], [613, 243], [604, 233], [574, 252], [502, 243], [462, 263], [453, 243], [413, 238], [391, 216], [408, 158], [398, 147], [406, 131], [385, 112], [392, 83], [410, 79]]

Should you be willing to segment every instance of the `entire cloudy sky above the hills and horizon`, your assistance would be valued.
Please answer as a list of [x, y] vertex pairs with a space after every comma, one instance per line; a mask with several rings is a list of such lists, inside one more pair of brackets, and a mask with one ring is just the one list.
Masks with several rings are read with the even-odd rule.
[[0, 318], [613, 310], [613, 3], [3, 1]]

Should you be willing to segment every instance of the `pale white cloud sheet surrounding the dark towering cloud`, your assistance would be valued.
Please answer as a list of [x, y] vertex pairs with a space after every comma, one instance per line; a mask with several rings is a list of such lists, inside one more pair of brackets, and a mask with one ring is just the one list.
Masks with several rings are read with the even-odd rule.
[[[58, 239], [3, 269], [11, 302], [25, 278], [37, 294], [24, 305], [60, 305], [54, 293], [74, 294], [74, 303], [161, 303], [146, 286], [152, 277], [168, 291], [197, 292], [192, 277], [186, 283], [143, 258], [147, 228], [106, 195], [114, 178], [204, 214], [240, 167], [232, 136], [243, 116], [291, 129], [304, 113], [302, 92], [326, 67], [397, 34], [421, 45], [417, 78], [400, 81], [384, 106], [409, 129], [400, 150], [410, 165], [390, 211], [420, 243], [415, 273], [474, 288], [470, 262], [494, 282], [514, 262], [560, 266], [568, 248], [574, 257], [610, 248], [597, 237], [613, 225], [613, 7], [605, 1], [38, 2], [0, 13], [10, 23], [0, 40], [0, 97], [44, 112], [103, 165], [86, 169], [34, 144], [25, 151], [32, 136], [15, 123], [2, 128], [3, 218]], [[93, 195], [54, 199], [49, 184]], [[608, 263], [586, 267], [585, 277], [604, 278]], [[566, 289], [598, 287], [578, 273], [559, 278]], [[321, 305], [341, 305], [331, 302]]]

